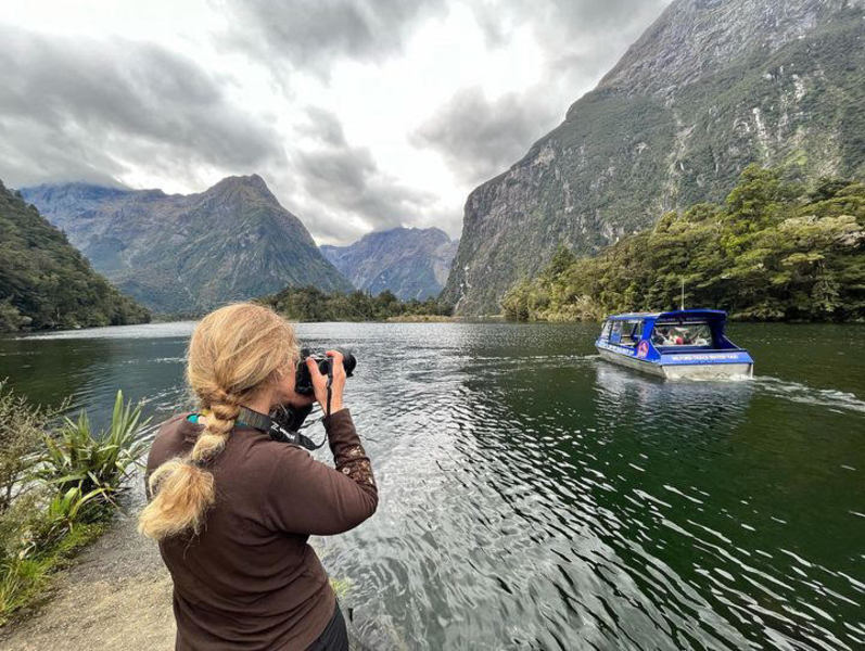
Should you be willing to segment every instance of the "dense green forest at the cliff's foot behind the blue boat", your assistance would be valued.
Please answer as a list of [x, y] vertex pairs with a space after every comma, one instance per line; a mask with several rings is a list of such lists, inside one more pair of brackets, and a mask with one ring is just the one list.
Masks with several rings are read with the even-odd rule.
[[751, 165], [723, 205], [671, 212], [654, 227], [577, 258], [560, 247], [505, 295], [517, 320], [600, 320], [678, 306], [740, 320], [865, 319], [865, 184], [807, 184]]

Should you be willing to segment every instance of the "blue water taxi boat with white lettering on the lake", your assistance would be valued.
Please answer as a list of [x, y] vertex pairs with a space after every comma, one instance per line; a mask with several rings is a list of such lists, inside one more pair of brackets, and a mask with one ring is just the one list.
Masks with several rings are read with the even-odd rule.
[[724, 334], [726, 322], [720, 309], [614, 315], [595, 347], [602, 359], [671, 380], [751, 376], [754, 360]]

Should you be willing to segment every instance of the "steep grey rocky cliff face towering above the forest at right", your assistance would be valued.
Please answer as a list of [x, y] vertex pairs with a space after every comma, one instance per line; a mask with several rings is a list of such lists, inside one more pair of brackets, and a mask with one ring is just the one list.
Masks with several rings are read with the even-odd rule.
[[468, 197], [443, 298], [499, 311], [564, 243], [593, 253], [718, 201], [749, 163], [865, 174], [865, 0], [676, 0], [565, 120]]

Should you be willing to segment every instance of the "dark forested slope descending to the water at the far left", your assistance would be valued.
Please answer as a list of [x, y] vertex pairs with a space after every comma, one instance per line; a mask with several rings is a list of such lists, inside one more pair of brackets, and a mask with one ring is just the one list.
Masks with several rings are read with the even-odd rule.
[[150, 320], [39, 212], [0, 182], [0, 332]]

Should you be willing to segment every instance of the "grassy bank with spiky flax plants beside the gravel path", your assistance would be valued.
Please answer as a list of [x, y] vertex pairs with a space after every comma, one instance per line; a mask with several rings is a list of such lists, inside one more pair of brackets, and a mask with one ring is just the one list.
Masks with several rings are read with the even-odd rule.
[[144, 450], [140, 407], [117, 393], [112, 422], [62, 419], [0, 383], [0, 625], [39, 601], [51, 574], [107, 527]]

